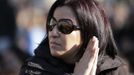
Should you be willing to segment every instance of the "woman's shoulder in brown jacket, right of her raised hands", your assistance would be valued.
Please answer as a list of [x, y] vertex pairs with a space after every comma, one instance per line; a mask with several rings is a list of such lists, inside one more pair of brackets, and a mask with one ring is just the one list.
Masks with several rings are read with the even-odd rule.
[[128, 64], [119, 56], [116, 56], [114, 59], [104, 56], [100, 62], [102, 64], [99, 65], [99, 72], [112, 72], [113, 75], [128, 75]]

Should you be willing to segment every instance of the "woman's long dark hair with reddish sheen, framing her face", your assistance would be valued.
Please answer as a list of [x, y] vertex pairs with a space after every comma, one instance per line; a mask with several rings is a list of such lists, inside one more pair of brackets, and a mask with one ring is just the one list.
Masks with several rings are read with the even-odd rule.
[[110, 57], [115, 57], [117, 54], [117, 47], [112, 35], [110, 23], [103, 8], [97, 1], [57, 0], [49, 11], [47, 25], [53, 17], [55, 9], [62, 6], [68, 6], [72, 9], [78, 20], [78, 24], [80, 25], [82, 47], [77, 54], [79, 57], [83, 55], [90, 38], [93, 36], [96, 36], [99, 39], [99, 56], [107, 54]]

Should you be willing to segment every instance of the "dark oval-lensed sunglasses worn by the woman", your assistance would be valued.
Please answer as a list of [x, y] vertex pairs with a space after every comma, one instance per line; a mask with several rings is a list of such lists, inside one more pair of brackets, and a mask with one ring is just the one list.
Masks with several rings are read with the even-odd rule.
[[73, 22], [70, 19], [60, 19], [57, 21], [53, 17], [48, 24], [48, 31], [52, 31], [56, 25], [58, 31], [62, 32], [63, 34], [70, 34], [74, 30], [80, 30], [80, 27], [73, 25]]

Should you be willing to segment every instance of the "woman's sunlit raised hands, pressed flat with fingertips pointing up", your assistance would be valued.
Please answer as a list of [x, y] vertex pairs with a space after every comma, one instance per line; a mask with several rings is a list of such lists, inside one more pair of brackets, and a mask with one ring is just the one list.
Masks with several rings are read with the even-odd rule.
[[73, 75], [95, 75], [99, 53], [99, 40], [93, 36], [80, 59], [76, 63]]

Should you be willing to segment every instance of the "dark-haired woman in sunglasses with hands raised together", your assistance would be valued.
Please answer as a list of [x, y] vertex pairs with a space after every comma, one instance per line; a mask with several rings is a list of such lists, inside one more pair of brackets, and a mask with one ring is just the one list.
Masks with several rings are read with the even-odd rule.
[[20, 75], [128, 75], [109, 21], [94, 0], [57, 0], [47, 17], [47, 36]]

